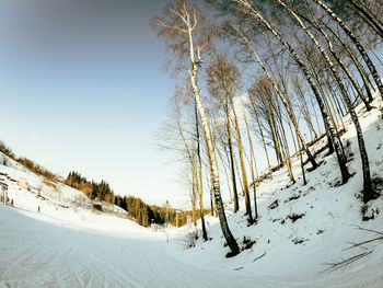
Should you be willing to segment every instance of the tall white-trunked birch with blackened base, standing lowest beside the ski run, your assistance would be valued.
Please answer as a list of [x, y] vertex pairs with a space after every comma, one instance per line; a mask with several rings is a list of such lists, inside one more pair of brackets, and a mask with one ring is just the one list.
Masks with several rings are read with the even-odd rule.
[[[209, 37], [207, 33], [204, 32], [204, 20], [202, 14], [195, 5], [189, 4], [186, 1], [176, 0], [174, 3], [171, 3], [164, 8], [163, 18], [153, 19], [153, 24], [159, 30], [159, 36], [163, 36], [166, 39], [167, 47], [172, 49], [173, 55], [177, 57], [179, 62], [183, 64], [185, 60], [188, 62], [188, 79], [197, 103], [198, 113], [208, 147], [211, 183], [219, 220], [222, 233], [229, 247], [231, 249], [231, 254], [235, 255], [240, 252], [240, 249], [236, 240], [230, 231], [224, 212], [214, 145], [211, 138], [210, 126], [205, 107], [199, 94], [197, 80], [198, 69], [204, 64], [201, 57], [204, 49], [210, 45]], [[179, 68], [179, 66], [177, 68]]]

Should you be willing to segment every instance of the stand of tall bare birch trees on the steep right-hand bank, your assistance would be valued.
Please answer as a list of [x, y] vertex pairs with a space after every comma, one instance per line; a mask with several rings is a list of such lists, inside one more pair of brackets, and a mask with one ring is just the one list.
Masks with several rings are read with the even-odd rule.
[[[252, 224], [258, 218], [256, 158], [265, 159], [269, 177], [274, 165], [286, 166], [294, 183], [292, 157], [299, 157], [305, 184], [305, 173], [318, 166], [311, 143], [324, 135], [341, 183], [347, 183], [349, 159], [340, 139], [346, 114], [357, 131], [363, 203], [378, 197], [356, 106], [374, 110], [374, 91], [383, 97], [375, 67], [382, 65], [375, 55], [383, 41], [382, 2], [206, 0], [204, 8], [205, 13], [197, 4], [175, 0], [152, 20], [178, 79], [163, 148], [177, 151], [185, 165], [184, 182], [193, 210], [200, 211], [204, 239], [205, 189], [232, 254], [239, 253], [223, 209], [220, 174], [234, 211], [243, 195]], [[255, 155], [254, 139], [264, 154]]]

